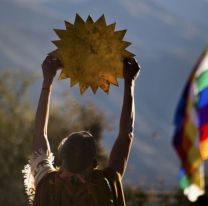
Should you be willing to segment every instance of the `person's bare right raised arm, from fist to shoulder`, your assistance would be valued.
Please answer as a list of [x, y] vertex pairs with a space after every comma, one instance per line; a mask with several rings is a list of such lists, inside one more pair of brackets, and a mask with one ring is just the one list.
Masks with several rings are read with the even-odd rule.
[[124, 61], [124, 99], [120, 118], [119, 134], [112, 148], [109, 167], [114, 168], [123, 177], [133, 140], [135, 107], [134, 86], [140, 66], [134, 58]]

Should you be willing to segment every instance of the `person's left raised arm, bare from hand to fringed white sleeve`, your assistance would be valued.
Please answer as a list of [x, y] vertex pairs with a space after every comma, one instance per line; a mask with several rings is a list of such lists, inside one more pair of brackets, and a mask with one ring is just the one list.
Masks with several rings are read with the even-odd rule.
[[35, 127], [33, 135], [33, 151], [50, 152], [50, 145], [47, 137], [50, 96], [53, 78], [57, 69], [61, 67], [61, 62], [51, 56], [46, 57], [42, 64], [43, 83], [35, 117]]

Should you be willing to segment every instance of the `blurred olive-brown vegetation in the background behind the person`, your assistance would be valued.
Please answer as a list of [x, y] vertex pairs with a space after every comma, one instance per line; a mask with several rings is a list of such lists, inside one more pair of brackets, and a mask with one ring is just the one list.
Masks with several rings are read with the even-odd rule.
[[[31, 87], [35, 75], [23, 71], [0, 72], [0, 205], [28, 205], [21, 170], [31, 154], [34, 108]], [[49, 140], [56, 148], [62, 138], [72, 131], [90, 131], [97, 140], [101, 167], [107, 162], [102, 146], [103, 132], [110, 128], [105, 114], [95, 105], [81, 105], [70, 95], [63, 94], [63, 104], [53, 106], [49, 119]], [[159, 193], [131, 185], [124, 186], [127, 206], [189, 206], [181, 192]]]

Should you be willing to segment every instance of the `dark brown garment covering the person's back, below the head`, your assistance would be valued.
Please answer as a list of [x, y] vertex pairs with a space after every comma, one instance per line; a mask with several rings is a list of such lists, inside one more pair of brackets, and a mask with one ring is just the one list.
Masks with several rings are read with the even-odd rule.
[[59, 171], [47, 174], [38, 184], [34, 206], [123, 206], [119, 174], [112, 169], [93, 170], [85, 183], [77, 177], [65, 180]]

